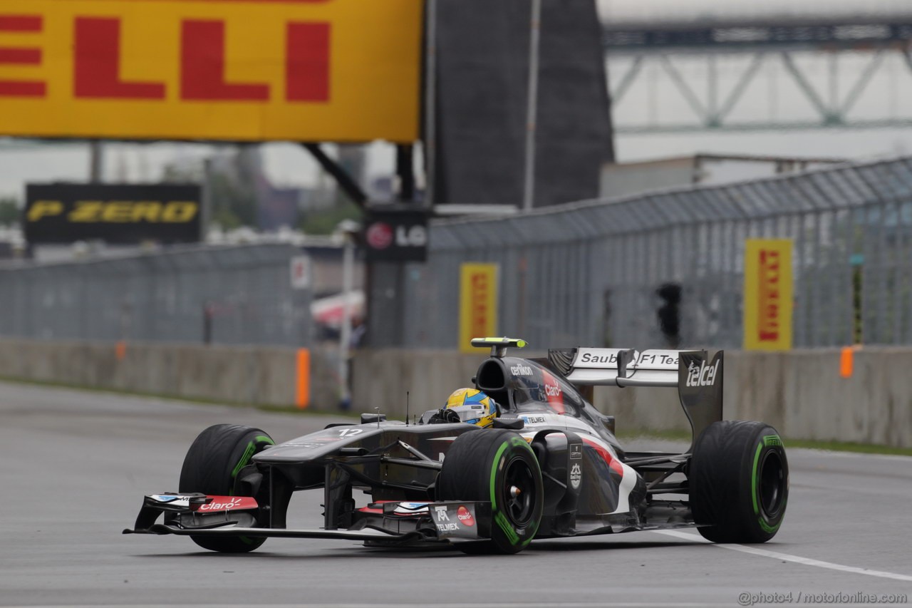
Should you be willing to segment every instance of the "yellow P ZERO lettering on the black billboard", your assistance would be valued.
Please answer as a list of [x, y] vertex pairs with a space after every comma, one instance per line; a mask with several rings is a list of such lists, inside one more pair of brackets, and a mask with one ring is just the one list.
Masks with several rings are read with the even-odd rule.
[[77, 201], [64, 215], [66, 206], [62, 201], [36, 201], [28, 209], [26, 220], [35, 223], [63, 216], [72, 223], [186, 224], [199, 211], [199, 204], [194, 201]]

